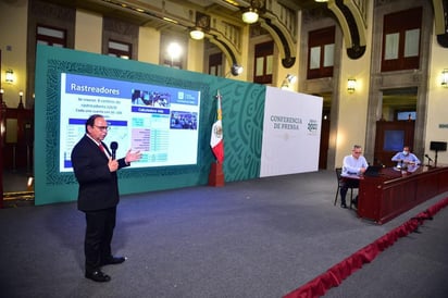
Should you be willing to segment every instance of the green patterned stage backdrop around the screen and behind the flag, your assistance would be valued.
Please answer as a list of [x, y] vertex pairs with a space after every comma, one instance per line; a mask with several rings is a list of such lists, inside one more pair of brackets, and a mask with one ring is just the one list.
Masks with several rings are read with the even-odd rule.
[[214, 161], [210, 136], [216, 117], [217, 90], [222, 95], [225, 182], [259, 177], [266, 92], [264, 86], [47, 46], [38, 46], [36, 61], [36, 204], [66, 202], [77, 198], [74, 174], [59, 171], [61, 73], [201, 91], [198, 163], [122, 170], [119, 172], [122, 195], [208, 184], [210, 166]]

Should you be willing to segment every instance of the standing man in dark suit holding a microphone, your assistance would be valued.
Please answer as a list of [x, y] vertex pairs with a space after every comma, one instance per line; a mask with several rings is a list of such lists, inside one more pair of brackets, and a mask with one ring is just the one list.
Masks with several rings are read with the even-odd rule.
[[79, 184], [77, 207], [86, 214], [85, 276], [95, 282], [111, 280], [101, 271], [101, 266], [120, 264], [126, 260], [124, 257], [113, 257], [111, 252], [120, 200], [116, 171], [141, 157], [139, 151], [128, 150], [125, 158], [112, 159], [102, 142], [108, 129], [102, 115], [91, 115], [86, 121], [86, 135], [72, 151], [73, 170]]

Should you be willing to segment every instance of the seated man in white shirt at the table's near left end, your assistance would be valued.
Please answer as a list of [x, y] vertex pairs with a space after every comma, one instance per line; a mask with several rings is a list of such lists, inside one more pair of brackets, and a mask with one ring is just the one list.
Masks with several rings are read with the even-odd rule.
[[[340, 186], [340, 207], [347, 208], [346, 195], [347, 190], [351, 187], [359, 187], [359, 178], [364, 174], [369, 164], [365, 158], [362, 156], [362, 148], [359, 145], [354, 145], [351, 149], [351, 154], [344, 158], [341, 186]], [[358, 196], [357, 196], [358, 198]], [[358, 204], [357, 198], [353, 200], [354, 206]]]

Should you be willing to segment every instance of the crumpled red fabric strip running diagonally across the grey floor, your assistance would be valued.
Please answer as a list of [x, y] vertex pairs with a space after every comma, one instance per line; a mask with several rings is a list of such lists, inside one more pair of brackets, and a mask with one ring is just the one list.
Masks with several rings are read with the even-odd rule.
[[329, 288], [340, 285], [345, 278], [361, 269], [363, 264], [372, 262], [379, 252], [394, 245], [398, 238], [414, 232], [424, 221], [431, 220], [434, 214], [447, 206], [448, 198], [438, 201], [424, 212], [419, 213], [416, 216], [394, 228], [383, 237], [376, 239], [364, 248], [361, 248], [340, 263], [332, 266], [325, 273], [287, 294], [284, 298], [309, 298], [325, 295]]

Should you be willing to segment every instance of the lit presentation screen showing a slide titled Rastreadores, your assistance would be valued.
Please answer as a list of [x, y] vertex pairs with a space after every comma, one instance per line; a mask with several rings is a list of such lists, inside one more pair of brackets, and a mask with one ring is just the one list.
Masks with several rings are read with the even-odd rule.
[[61, 74], [60, 172], [73, 171], [71, 153], [85, 135], [86, 120], [101, 114], [108, 122], [104, 142], [142, 156], [130, 167], [196, 164], [200, 91]]

